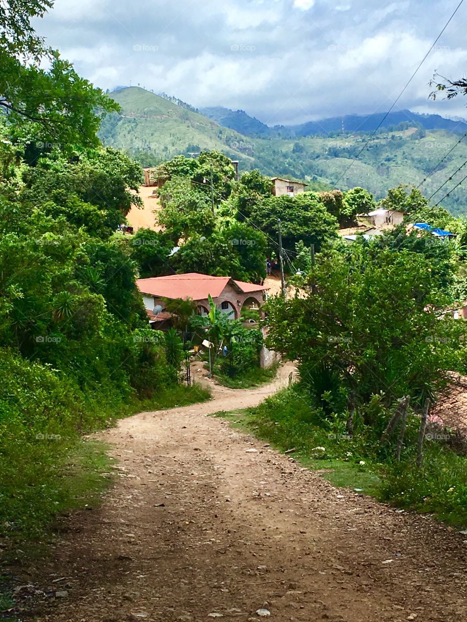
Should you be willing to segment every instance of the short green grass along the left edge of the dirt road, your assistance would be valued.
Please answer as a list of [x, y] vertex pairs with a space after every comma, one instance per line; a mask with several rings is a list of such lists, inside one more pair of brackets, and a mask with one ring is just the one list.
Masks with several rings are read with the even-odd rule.
[[[135, 399], [121, 406], [107, 425], [136, 412], [187, 406], [208, 399], [209, 389], [198, 384], [178, 385], [152, 399]], [[108, 457], [108, 447], [103, 443], [75, 434], [59, 440], [36, 440], [31, 451], [36, 446], [37, 460], [24, 457], [21, 470], [8, 470], [7, 461], [1, 464], [0, 542], [3, 539], [7, 546], [40, 540], [60, 525], [59, 517], [67, 511], [97, 506], [111, 482], [108, 471], [113, 459]]]

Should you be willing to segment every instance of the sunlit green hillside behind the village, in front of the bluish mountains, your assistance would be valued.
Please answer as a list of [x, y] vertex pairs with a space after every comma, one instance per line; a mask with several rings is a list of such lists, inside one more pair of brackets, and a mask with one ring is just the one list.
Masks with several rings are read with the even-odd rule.
[[[318, 190], [362, 186], [381, 198], [399, 183], [418, 185], [425, 177], [422, 190], [430, 196], [467, 160], [466, 139], [435, 169], [460, 138], [442, 129], [407, 129], [406, 123], [404, 129], [379, 132], [359, 155], [368, 134], [247, 137], [142, 88], [124, 88], [111, 95], [122, 111], [103, 121], [100, 136], [106, 145], [128, 151], [142, 165], [158, 164], [177, 154], [219, 149], [240, 160], [241, 170], [257, 167], [265, 175], [304, 179]], [[467, 165], [435, 195], [433, 203], [464, 175]], [[443, 200], [443, 206], [455, 215], [466, 214], [466, 198], [460, 186]]]

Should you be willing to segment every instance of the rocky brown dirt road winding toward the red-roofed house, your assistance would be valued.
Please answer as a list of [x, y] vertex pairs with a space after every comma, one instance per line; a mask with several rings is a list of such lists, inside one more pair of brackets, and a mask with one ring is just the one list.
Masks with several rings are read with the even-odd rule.
[[101, 434], [115, 447], [118, 481], [100, 509], [73, 516], [52, 559], [31, 573], [68, 592], [31, 618], [466, 620], [466, 536], [333, 488], [206, 416], [258, 404], [288, 373]]

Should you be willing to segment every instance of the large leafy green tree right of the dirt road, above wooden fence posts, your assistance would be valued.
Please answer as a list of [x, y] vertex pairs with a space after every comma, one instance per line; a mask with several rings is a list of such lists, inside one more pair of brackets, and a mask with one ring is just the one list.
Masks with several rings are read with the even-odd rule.
[[267, 341], [299, 361], [302, 381], [321, 387], [318, 399], [330, 391], [346, 407], [409, 394], [422, 404], [458, 368], [463, 327], [436, 311], [448, 299], [422, 254], [354, 245], [320, 256], [306, 282], [308, 296], [267, 304]]

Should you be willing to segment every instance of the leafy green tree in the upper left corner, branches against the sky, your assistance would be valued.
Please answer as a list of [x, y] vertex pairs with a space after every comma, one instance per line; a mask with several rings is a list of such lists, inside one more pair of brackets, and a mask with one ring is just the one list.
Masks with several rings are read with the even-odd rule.
[[[2, 3], [0, 108], [19, 144], [32, 133], [43, 146], [54, 143], [62, 151], [97, 146], [100, 120], [117, 111], [118, 104], [78, 76], [70, 63], [35, 34], [31, 19], [43, 17], [50, 7], [49, 0]], [[42, 60], [48, 68], [41, 67]]]

